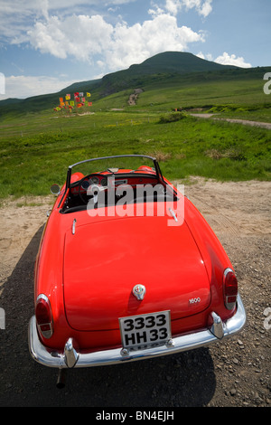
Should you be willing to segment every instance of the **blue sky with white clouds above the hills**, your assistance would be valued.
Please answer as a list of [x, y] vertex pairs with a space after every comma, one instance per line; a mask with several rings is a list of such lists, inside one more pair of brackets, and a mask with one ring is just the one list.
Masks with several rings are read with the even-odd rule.
[[271, 0], [0, 0], [0, 99], [56, 92], [159, 52], [271, 66]]

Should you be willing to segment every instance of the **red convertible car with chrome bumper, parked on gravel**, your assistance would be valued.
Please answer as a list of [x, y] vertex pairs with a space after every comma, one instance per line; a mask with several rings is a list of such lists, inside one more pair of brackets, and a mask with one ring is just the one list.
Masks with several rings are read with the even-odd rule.
[[60, 370], [210, 345], [246, 322], [209, 224], [155, 158], [137, 155], [69, 166], [42, 234], [34, 307], [30, 352]]

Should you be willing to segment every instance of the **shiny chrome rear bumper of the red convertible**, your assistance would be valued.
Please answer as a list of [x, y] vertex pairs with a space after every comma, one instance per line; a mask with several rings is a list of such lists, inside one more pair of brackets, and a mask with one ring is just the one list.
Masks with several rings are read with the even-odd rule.
[[224, 337], [237, 334], [245, 323], [246, 311], [241, 297], [238, 295], [236, 314], [230, 317], [229, 320], [222, 322], [220, 316], [212, 313], [210, 315], [210, 327], [208, 329], [193, 334], [176, 336], [167, 345], [130, 353], [120, 348], [95, 353], [79, 353], [73, 344], [72, 338], [70, 338], [63, 352], [60, 353], [49, 351], [48, 348], [42, 345], [37, 333], [35, 316], [33, 316], [29, 323], [29, 350], [36, 362], [49, 367], [71, 368], [120, 364], [166, 354], [180, 353], [210, 345], [220, 341]]

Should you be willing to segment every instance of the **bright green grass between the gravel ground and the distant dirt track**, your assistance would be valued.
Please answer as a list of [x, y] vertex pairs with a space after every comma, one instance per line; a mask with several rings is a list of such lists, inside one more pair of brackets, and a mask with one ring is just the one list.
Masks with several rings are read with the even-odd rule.
[[69, 165], [120, 154], [156, 156], [171, 180], [271, 179], [269, 130], [190, 116], [172, 120], [171, 114], [130, 109], [6, 118], [0, 124], [0, 198], [49, 194], [51, 184], [64, 183]]

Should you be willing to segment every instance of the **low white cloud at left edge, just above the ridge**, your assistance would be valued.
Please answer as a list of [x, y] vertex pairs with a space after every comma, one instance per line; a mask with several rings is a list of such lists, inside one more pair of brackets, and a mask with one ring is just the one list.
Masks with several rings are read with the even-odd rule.
[[[55, 93], [70, 86], [74, 80], [52, 78], [45, 76], [26, 77], [24, 75], [5, 77], [5, 93], [0, 94], [0, 100], [8, 98], [30, 98], [41, 94]], [[57, 101], [57, 100], [56, 100]]]

